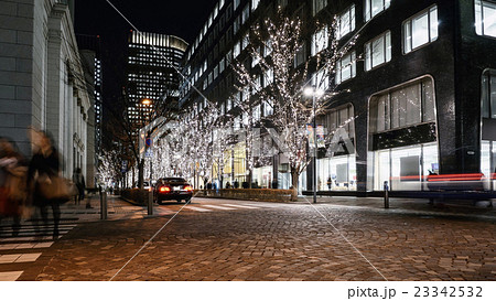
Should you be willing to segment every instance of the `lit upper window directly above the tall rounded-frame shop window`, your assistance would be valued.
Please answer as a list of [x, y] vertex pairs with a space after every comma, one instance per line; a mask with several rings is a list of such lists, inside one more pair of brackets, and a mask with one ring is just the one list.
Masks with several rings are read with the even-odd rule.
[[409, 53], [438, 39], [438, 7], [422, 11], [403, 23], [403, 52]]

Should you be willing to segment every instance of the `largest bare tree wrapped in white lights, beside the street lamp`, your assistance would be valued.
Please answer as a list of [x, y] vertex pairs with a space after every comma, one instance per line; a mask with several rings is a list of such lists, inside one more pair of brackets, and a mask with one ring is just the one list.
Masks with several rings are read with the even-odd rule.
[[[357, 37], [355, 35], [346, 43], [339, 41], [337, 18], [331, 24], [316, 23], [309, 25], [309, 29], [315, 29], [311, 41], [311, 52], [315, 55], [310, 58], [304, 56], [306, 52], [303, 47], [306, 45], [302, 21], [284, 17], [279, 11], [272, 19], [251, 28], [248, 44], [250, 57], [241, 55], [231, 63], [238, 78], [238, 89], [241, 93], [250, 90], [252, 95], [241, 97], [238, 106], [251, 117], [252, 108], [262, 106], [267, 114], [258, 126], [268, 131], [276, 130], [280, 138], [279, 149], [289, 160], [293, 198], [298, 192], [298, 179], [311, 157], [305, 127], [313, 122], [316, 115], [325, 112], [326, 105], [336, 94], [331, 79], [335, 76], [336, 65], [343, 62]], [[302, 64], [299, 64], [300, 61]], [[314, 73], [310, 74], [310, 71]], [[305, 87], [313, 87], [314, 93], [322, 92], [316, 95], [315, 104], [313, 97], [303, 95]], [[247, 144], [247, 149], [251, 147]]]

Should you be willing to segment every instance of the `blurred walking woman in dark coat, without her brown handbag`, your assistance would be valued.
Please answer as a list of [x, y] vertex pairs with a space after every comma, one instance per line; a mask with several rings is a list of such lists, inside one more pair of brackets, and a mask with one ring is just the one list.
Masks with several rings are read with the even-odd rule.
[[32, 202], [41, 213], [43, 223], [48, 224], [48, 213], [46, 207], [52, 207], [53, 213], [53, 238], [58, 238], [58, 224], [61, 221], [60, 203], [65, 200], [47, 198], [42, 195], [40, 185], [43, 181], [50, 181], [58, 176], [61, 162], [58, 152], [53, 146], [46, 133], [35, 131], [32, 136], [32, 142], [35, 146], [33, 158], [28, 169], [28, 187], [32, 187]]

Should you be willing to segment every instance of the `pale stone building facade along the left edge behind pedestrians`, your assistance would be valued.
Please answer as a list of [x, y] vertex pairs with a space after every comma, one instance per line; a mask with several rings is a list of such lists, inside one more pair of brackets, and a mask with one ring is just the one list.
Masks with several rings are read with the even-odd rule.
[[[64, 175], [86, 174], [89, 110], [73, 28], [72, 0], [0, 1], [0, 136], [31, 155], [29, 127], [47, 131], [58, 149]], [[89, 164], [88, 164], [89, 163]]]

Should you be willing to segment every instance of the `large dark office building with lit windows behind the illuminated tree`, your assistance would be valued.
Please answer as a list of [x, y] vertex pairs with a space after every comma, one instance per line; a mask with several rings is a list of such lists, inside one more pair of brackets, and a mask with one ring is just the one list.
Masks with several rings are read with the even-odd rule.
[[[327, 132], [345, 127], [354, 149], [319, 152], [320, 191], [381, 191], [386, 181], [391, 190], [423, 190], [429, 173], [489, 178], [495, 171], [496, 1], [219, 1], [186, 52], [185, 75], [220, 111], [233, 109], [228, 99], [238, 93], [229, 62], [247, 51], [250, 25], [277, 7], [308, 23], [331, 24], [337, 15], [339, 43], [357, 36], [328, 78], [333, 90], [346, 93], [316, 121]], [[296, 61], [319, 52], [316, 34], [306, 33]], [[182, 87], [180, 105], [201, 114], [202, 97], [187, 82]], [[220, 176], [214, 171], [214, 180], [246, 181], [240, 148], [233, 146], [230, 166]], [[312, 189], [312, 169], [301, 175], [303, 190]], [[274, 179], [290, 185], [282, 155], [256, 166], [252, 178], [261, 186]]]

